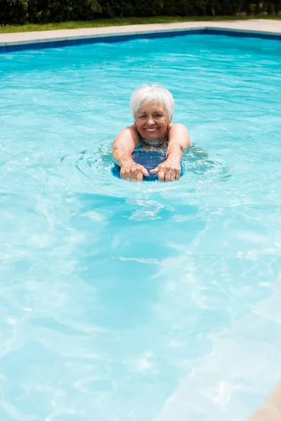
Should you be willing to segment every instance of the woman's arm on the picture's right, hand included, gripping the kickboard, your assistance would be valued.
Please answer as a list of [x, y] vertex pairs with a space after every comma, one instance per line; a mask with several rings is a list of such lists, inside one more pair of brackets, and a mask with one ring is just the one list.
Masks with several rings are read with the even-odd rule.
[[173, 124], [169, 130], [169, 145], [166, 161], [151, 170], [151, 174], [158, 174], [159, 181], [179, 180], [181, 175], [181, 159], [183, 152], [192, 147], [188, 129], [183, 124]]

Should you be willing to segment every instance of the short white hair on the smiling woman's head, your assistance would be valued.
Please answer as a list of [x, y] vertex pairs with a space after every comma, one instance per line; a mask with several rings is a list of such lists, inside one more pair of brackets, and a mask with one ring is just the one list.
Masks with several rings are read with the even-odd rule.
[[151, 104], [151, 102], [158, 102], [159, 104], [164, 105], [169, 119], [174, 114], [174, 98], [167, 89], [162, 88], [162, 86], [153, 84], [142, 85], [139, 88], [136, 88], [135, 91], [131, 94], [130, 99], [130, 109], [133, 118], [135, 118], [136, 113], [145, 105]]

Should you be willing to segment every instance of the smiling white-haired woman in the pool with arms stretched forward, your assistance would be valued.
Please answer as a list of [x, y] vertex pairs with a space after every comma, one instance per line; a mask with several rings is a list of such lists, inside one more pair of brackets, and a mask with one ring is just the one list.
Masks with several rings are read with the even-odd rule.
[[134, 123], [124, 128], [113, 143], [112, 156], [120, 167], [124, 180], [142, 181], [148, 177], [146, 168], [132, 159], [133, 150], [141, 145], [144, 150], [166, 148], [166, 160], [150, 171], [159, 181], [180, 178], [183, 152], [192, 146], [188, 129], [173, 124], [174, 98], [169, 91], [157, 85], [143, 85], [133, 91], [130, 100]]

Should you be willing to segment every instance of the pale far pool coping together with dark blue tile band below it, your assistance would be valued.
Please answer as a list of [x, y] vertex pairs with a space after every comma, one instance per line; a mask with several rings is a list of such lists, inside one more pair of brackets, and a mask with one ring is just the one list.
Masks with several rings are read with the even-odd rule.
[[33, 48], [94, 44], [96, 42], [118, 42], [137, 38], [181, 36], [183, 34], [219, 34], [281, 41], [281, 21], [253, 19], [14, 32], [0, 34], [0, 53]]

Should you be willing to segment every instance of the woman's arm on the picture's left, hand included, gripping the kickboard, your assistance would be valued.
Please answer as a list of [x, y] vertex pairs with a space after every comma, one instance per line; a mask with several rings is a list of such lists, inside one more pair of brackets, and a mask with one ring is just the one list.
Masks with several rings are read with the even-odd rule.
[[140, 135], [134, 126], [124, 128], [113, 142], [112, 157], [119, 165], [120, 177], [124, 180], [142, 181], [143, 175], [149, 175], [148, 171], [131, 157], [139, 142]]

